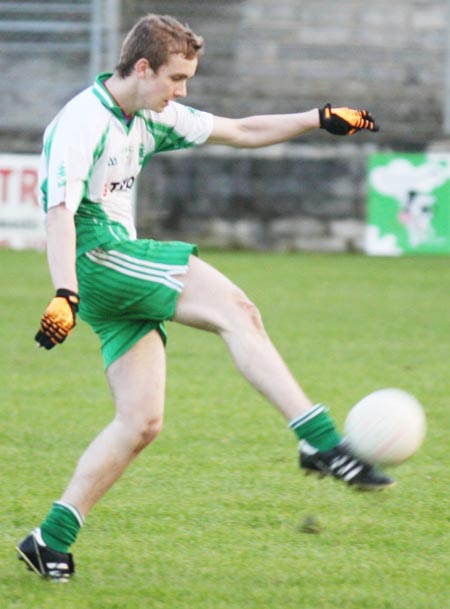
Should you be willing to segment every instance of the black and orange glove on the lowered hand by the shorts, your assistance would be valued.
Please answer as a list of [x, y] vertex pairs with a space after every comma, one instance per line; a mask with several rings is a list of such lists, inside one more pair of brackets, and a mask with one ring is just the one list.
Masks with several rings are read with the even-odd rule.
[[64, 342], [75, 326], [80, 297], [71, 290], [57, 290], [41, 319], [41, 327], [34, 337], [39, 347], [52, 349]]

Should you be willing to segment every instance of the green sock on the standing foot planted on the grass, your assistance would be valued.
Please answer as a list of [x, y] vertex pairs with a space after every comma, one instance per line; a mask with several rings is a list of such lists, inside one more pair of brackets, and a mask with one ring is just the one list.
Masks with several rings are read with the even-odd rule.
[[67, 553], [83, 524], [84, 518], [76, 507], [55, 501], [41, 524], [42, 539], [52, 550]]

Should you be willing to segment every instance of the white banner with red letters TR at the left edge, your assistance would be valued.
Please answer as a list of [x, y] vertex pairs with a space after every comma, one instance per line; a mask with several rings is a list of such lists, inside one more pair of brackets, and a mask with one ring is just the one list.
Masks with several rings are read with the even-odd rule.
[[44, 249], [39, 155], [0, 154], [0, 246]]

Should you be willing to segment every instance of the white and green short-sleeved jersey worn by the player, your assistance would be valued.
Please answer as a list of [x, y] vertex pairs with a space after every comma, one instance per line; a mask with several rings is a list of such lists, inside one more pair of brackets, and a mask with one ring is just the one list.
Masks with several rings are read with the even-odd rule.
[[40, 185], [47, 211], [62, 202], [75, 214], [78, 255], [135, 239], [131, 190], [153, 154], [204, 143], [213, 116], [176, 102], [141, 110], [128, 123], [105, 88], [111, 76], [74, 97], [44, 134]]

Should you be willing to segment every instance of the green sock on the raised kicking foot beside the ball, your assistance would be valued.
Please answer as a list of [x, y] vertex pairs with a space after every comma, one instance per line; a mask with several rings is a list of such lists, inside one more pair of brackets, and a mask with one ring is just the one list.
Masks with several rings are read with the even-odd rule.
[[323, 404], [317, 404], [301, 417], [293, 419], [289, 423], [289, 428], [299, 440], [306, 440], [320, 451], [331, 450], [341, 441], [333, 419], [328, 415], [328, 410]]

